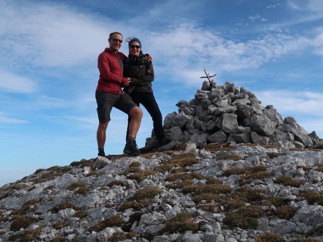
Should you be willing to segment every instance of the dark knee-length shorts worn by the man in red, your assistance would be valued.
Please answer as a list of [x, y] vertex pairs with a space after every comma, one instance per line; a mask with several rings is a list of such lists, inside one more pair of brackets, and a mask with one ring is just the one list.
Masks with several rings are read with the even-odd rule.
[[137, 107], [131, 97], [127, 94], [115, 94], [112, 92], [96, 91], [95, 99], [97, 103], [97, 116], [99, 122], [105, 123], [110, 122], [110, 112], [112, 107], [118, 108], [119, 110], [129, 114], [129, 111], [133, 107]]

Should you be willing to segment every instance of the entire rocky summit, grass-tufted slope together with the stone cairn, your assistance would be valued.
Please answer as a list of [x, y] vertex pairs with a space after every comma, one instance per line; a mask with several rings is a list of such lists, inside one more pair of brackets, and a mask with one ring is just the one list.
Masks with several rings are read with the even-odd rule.
[[204, 82], [136, 157], [0, 188], [2, 241], [323, 241], [323, 140], [234, 84]]

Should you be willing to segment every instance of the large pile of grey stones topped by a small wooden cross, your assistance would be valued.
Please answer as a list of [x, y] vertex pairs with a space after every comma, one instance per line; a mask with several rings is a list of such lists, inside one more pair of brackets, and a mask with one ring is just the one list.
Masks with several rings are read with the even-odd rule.
[[[189, 142], [205, 145], [234, 141], [303, 148], [319, 140], [315, 131], [308, 134], [293, 117], [283, 120], [273, 105], [264, 107], [253, 93], [230, 82], [220, 86], [213, 80], [204, 81], [192, 100], [181, 100], [176, 106], [178, 113], [169, 113], [164, 120], [165, 132], [172, 142], [159, 151]], [[145, 147], [156, 145], [152, 132]]]

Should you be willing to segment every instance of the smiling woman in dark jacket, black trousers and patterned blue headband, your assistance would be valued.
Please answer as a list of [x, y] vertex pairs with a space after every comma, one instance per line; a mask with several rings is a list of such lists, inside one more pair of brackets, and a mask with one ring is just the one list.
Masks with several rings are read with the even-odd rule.
[[[141, 42], [138, 38], [130, 38], [129, 40], [129, 55], [124, 61], [123, 71], [124, 77], [130, 78], [130, 86], [125, 87], [123, 91], [128, 93], [138, 106], [141, 103], [149, 112], [159, 146], [169, 143], [171, 140], [165, 136], [163, 117], [152, 92], [151, 82], [154, 80], [152, 63], [147, 62], [145, 55], [142, 54]], [[127, 138], [130, 120], [131, 117], [129, 116]]]

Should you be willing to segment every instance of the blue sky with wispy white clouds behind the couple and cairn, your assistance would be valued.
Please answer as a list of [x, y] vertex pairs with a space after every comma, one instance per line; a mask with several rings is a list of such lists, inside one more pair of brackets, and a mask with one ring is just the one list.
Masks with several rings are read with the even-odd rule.
[[[97, 56], [114, 31], [152, 55], [163, 117], [205, 69], [323, 138], [322, 12], [321, 0], [0, 0], [0, 186], [96, 157]], [[122, 153], [126, 125], [114, 110], [106, 154]], [[139, 147], [151, 130], [144, 111]]]

